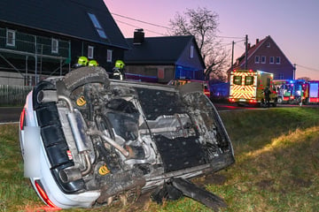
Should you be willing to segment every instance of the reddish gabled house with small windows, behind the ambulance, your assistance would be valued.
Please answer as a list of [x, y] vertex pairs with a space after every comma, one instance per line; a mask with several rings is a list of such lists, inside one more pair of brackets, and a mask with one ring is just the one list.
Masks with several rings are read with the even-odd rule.
[[284, 52], [276, 45], [276, 42], [267, 36], [263, 40], [256, 40], [256, 43], [247, 46], [247, 66], [245, 67], [245, 52], [241, 57], [237, 58], [235, 64], [228, 70], [233, 69], [253, 69], [263, 72], [274, 73], [274, 79], [294, 79], [295, 68]]

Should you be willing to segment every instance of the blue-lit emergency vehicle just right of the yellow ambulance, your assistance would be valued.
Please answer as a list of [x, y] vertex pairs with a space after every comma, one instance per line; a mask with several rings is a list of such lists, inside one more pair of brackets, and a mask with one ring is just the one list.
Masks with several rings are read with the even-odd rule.
[[278, 103], [300, 103], [305, 101], [307, 83], [304, 79], [275, 79]]

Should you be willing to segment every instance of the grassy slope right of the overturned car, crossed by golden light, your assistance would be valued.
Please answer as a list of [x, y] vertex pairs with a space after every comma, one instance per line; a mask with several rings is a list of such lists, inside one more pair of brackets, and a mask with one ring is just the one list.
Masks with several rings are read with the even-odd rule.
[[318, 109], [245, 111], [222, 118], [237, 159], [219, 173], [227, 182], [212, 187], [229, 203], [222, 211], [317, 211]]

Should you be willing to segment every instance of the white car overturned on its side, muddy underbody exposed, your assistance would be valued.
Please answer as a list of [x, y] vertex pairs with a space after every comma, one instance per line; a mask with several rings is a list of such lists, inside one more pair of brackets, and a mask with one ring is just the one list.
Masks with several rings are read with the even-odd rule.
[[150, 191], [154, 201], [185, 195], [225, 206], [188, 180], [234, 163], [200, 87], [111, 80], [101, 67], [78, 68], [27, 95], [19, 135], [25, 176], [51, 207], [91, 208]]

